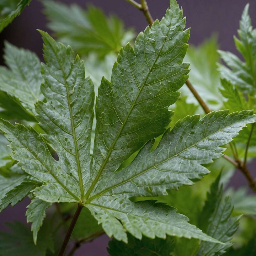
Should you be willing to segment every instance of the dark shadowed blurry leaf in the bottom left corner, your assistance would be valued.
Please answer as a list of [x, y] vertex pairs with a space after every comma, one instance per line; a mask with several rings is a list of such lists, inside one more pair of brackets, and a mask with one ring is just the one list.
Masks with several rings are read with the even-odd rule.
[[49, 225], [43, 225], [38, 233], [37, 245], [34, 245], [32, 233], [20, 222], [8, 223], [12, 233], [0, 232], [0, 255], [45, 256], [47, 250], [54, 252], [52, 231]]

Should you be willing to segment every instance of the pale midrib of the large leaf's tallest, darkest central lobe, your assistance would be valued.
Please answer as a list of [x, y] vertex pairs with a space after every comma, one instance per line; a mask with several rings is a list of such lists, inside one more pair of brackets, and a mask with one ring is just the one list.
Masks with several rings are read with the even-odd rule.
[[[170, 31], [170, 28], [171, 28], [171, 26], [169, 27], [169, 31]], [[168, 31], [167, 34], [169, 34], [169, 31]], [[154, 67], [154, 65], [155, 65], [155, 63], [156, 63], [156, 61], [157, 61], [158, 58], [159, 58], [159, 54], [161, 53], [162, 48], [163, 48], [164, 45], [165, 45], [165, 42], [166, 42], [166, 37], [165, 37], [164, 43], [162, 44], [161, 49], [159, 50], [159, 53], [157, 54], [157, 56], [156, 56], [156, 58], [155, 58], [154, 63], [152, 64], [151, 68], [149, 69], [148, 74], [146, 75], [144, 81], [142, 82], [142, 85], [141, 85], [141, 87], [140, 87], [140, 90], [139, 90], [139, 92], [138, 92], [138, 94], [137, 94], [137, 96], [136, 96], [136, 98], [135, 98], [135, 100], [134, 100], [132, 106], [130, 107], [129, 112], [127, 113], [126, 119], [125, 119], [124, 122], [122, 123], [122, 126], [121, 126], [121, 128], [120, 128], [120, 130], [119, 130], [119, 132], [118, 132], [118, 134], [117, 134], [117, 136], [116, 136], [116, 139], [114, 140], [114, 142], [112, 143], [110, 149], [108, 150], [107, 156], [106, 156], [105, 160], [103, 161], [103, 164], [101, 165], [101, 168], [100, 168], [100, 170], [99, 170], [98, 173], [97, 173], [97, 176], [95, 177], [95, 179], [94, 179], [94, 181], [92, 182], [91, 186], [89, 187], [87, 193], [85, 194], [85, 199], [86, 199], [86, 200], [89, 198], [89, 196], [90, 196], [90, 194], [91, 194], [93, 188], [95, 187], [95, 185], [96, 185], [98, 179], [100, 178], [101, 172], [103, 171], [103, 169], [104, 169], [104, 167], [105, 167], [105, 165], [106, 165], [106, 163], [107, 163], [107, 161], [108, 161], [108, 158], [110, 157], [110, 155], [111, 155], [111, 153], [112, 153], [112, 150], [113, 150], [114, 146], [116, 145], [116, 142], [117, 142], [118, 138], [120, 137], [120, 135], [121, 135], [121, 133], [122, 133], [122, 130], [123, 130], [123, 128], [124, 128], [124, 126], [125, 126], [125, 124], [126, 124], [128, 118], [129, 118], [129, 116], [130, 116], [130, 113], [132, 112], [134, 106], [136, 105], [136, 102], [137, 102], [137, 100], [138, 100], [138, 98], [139, 98], [139, 95], [140, 95], [141, 91], [143, 90], [143, 88], [144, 88], [144, 86], [145, 86], [145, 84], [146, 84], [146, 81], [148, 80], [148, 77], [149, 77], [149, 75], [150, 75], [150, 73], [151, 73], [151, 71], [152, 71], [152, 69], [153, 69], [153, 67]], [[135, 80], [135, 79], [134, 79], [134, 80]], [[135, 80], [135, 82], [136, 82], [136, 84], [137, 84], [137, 81], [136, 81], [136, 80]]]

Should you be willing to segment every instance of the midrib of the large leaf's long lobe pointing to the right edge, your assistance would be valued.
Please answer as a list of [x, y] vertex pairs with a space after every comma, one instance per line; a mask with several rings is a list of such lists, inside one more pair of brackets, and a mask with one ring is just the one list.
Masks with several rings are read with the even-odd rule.
[[[238, 122], [239, 122], [239, 121], [238, 121]], [[232, 123], [232, 124], [234, 124], [234, 123]], [[230, 126], [230, 125], [229, 125], [229, 126]], [[225, 128], [229, 127], [229, 126], [225, 126], [225, 127], [223, 127], [222, 129], [225, 129]], [[162, 163], [164, 163], [164, 162], [166, 162], [166, 161], [168, 161], [168, 160], [174, 158], [175, 156], [178, 156], [179, 154], [181, 154], [181, 153], [183, 153], [184, 151], [186, 151], [186, 150], [192, 148], [194, 145], [196, 145], [197, 143], [201, 142], [202, 140], [207, 139], [209, 136], [211, 136], [211, 135], [213, 135], [213, 134], [215, 134], [215, 133], [217, 133], [217, 132], [220, 132], [222, 129], [219, 129], [218, 131], [207, 135], [207, 137], [204, 137], [204, 138], [200, 139], [199, 141], [195, 142], [194, 144], [192, 144], [192, 145], [189, 146], [188, 148], [183, 149], [182, 151], [180, 151], [180, 152], [176, 153], [175, 155], [171, 156], [170, 158], [167, 158], [167, 159], [165, 159], [164, 161], [161, 161], [161, 162], [159, 162], [159, 163], [157, 163], [157, 164], [154, 164], [153, 166], [150, 166], [148, 169], [146, 169], [146, 170], [144, 170], [144, 171], [142, 171], [142, 172], [139, 172], [139, 174], [133, 176], [132, 178], [129, 178], [129, 179], [125, 180], [125, 181], [122, 181], [122, 182], [120, 182], [120, 183], [118, 183], [118, 184], [116, 184], [116, 185], [113, 185], [113, 186], [111, 186], [111, 187], [109, 187], [109, 188], [106, 188], [105, 190], [103, 190], [103, 191], [101, 191], [101, 192], [95, 194], [94, 196], [92, 196], [92, 197], [90, 197], [90, 198], [87, 199], [87, 203], [90, 203], [93, 199], [95, 199], [95, 198], [101, 196], [103, 193], [105, 193], [105, 192], [107, 192], [107, 191], [109, 191], [109, 190], [111, 190], [111, 189], [113, 189], [113, 188], [116, 188], [116, 187], [118, 187], [118, 186], [121, 186], [121, 185], [123, 185], [124, 183], [126, 183], [126, 182], [128, 182], [128, 181], [131, 181], [131, 180], [133, 180], [134, 178], [136, 178], [136, 177], [138, 177], [138, 176], [144, 174], [145, 172], [147, 172], [147, 171], [149, 171], [149, 170], [155, 168], [156, 166], [158, 166], [158, 165], [160, 165], [160, 164], [162, 164]], [[189, 160], [189, 159], [188, 159], [188, 160]], [[90, 203], [90, 204], [91, 204], [91, 203]]]

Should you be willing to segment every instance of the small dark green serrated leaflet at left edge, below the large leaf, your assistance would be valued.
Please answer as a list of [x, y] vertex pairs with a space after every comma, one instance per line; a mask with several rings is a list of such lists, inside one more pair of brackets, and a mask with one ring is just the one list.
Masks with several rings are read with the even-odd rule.
[[20, 185], [9, 191], [0, 201], [0, 212], [4, 210], [9, 204], [15, 206], [16, 203], [23, 200], [35, 187], [39, 184], [32, 181], [23, 181]]

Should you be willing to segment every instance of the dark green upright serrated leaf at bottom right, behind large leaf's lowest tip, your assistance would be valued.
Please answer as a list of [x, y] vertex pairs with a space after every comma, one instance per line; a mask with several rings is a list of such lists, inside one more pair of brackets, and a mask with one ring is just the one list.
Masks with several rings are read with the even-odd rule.
[[233, 206], [231, 198], [223, 198], [223, 187], [219, 187], [220, 175], [207, 194], [207, 201], [199, 218], [199, 226], [206, 234], [225, 244], [202, 242], [197, 256], [214, 256], [225, 253], [232, 243], [230, 242], [238, 229], [239, 218], [232, 218]]

